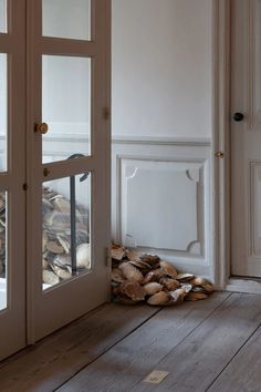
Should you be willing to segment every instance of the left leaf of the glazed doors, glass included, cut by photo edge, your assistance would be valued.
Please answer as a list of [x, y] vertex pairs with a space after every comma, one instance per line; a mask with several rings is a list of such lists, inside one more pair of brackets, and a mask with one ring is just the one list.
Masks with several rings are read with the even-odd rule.
[[0, 0], [0, 360], [25, 345], [25, 1]]

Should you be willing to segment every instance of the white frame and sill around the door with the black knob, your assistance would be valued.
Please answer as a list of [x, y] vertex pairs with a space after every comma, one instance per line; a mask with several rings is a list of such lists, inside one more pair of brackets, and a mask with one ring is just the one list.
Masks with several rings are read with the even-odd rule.
[[[261, 293], [260, 279], [231, 276], [231, 0], [213, 0], [213, 204], [215, 281], [218, 289]], [[215, 157], [218, 152], [225, 156]]]

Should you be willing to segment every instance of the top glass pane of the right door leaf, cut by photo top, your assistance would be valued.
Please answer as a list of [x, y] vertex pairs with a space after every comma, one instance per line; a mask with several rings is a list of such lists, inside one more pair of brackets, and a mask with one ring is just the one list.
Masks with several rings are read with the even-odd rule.
[[42, 0], [43, 35], [91, 39], [91, 0]]

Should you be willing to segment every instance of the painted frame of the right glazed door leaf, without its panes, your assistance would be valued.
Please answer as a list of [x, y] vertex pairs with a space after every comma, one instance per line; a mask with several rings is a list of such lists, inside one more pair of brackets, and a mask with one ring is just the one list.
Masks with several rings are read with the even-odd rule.
[[[28, 339], [29, 342], [42, 338], [64, 326], [109, 298], [109, 268], [106, 266], [106, 251], [111, 246], [109, 229], [109, 120], [104, 117], [104, 109], [109, 107], [109, 52], [111, 52], [111, 1], [92, 1], [92, 41], [49, 38], [41, 34], [41, 1], [29, 1], [28, 8], [28, 62], [30, 80], [28, 113]], [[61, 3], [62, 4], [62, 3]], [[33, 133], [34, 123], [42, 118], [42, 54], [92, 58], [92, 151], [91, 156], [70, 159], [75, 151], [74, 135], [66, 149], [63, 149], [61, 134], [56, 133], [56, 151], [48, 152], [59, 157], [59, 162], [42, 165], [42, 136]], [[86, 75], [87, 76], [87, 75]], [[75, 103], [76, 104], [76, 103]], [[86, 107], [87, 111], [87, 107]], [[64, 120], [69, 122], [65, 107]], [[52, 114], [52, 112], [51, 112]], [[75, 111], [73, 111], [75, 114]], [[54, 122], [58, 117], [52, 116]], [[74, 117], [71, 118], [74, 121]], [[80, 122], [83, 121], [80, 118]], [[85, 121], [85, 118], [84, 118]], [[69, 124], [70, 125], [70, 124]], [[51, 132], [50, 132], [51, 135]], [[55, 135], [54, 135], [55, 136]], [[60, 136], [60, 137], [59, 137]], [[86, 137], [82, 135], [83, 140]], [[48, 137], [49, 138], [49, 137]], [[77, 142], [76, 135], [76, 142]], [[45, 152], [43, 152], [45, 154]], [[51, 155], [50, 155], [51, 154]], [[33, 165], [32, 165], [33, 162]], [[48, 167], [50, 174], [43, 175]], [[42, 291], [42, 183], [76, 174], [92, 173], [92, 269], [73, 277], [69, 281]]]

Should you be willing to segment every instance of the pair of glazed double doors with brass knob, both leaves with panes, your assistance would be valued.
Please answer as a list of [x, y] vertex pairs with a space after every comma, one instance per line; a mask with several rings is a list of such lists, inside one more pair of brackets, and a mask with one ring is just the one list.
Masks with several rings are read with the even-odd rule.
[[2, 3], [12, 29], [0, 37], [10, 94], [0, 331], [20, 331], [10, 353], [108, 299], [111, 4]]

